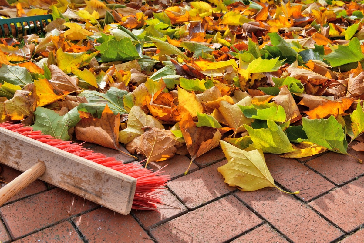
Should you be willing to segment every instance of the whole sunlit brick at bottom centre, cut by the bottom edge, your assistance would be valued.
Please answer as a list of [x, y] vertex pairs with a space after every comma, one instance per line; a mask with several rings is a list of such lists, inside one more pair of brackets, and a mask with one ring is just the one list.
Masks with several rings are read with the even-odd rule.
[[159, 243], [221, 243], [262, 222], [234, 196], [226, 196], [150, 232]]

